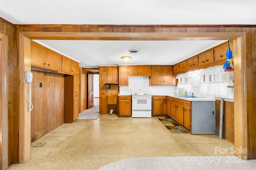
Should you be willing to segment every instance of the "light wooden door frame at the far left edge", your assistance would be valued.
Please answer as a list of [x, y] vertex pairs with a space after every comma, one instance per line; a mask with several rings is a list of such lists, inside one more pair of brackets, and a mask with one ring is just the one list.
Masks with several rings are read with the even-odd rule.
[[[8, 167], [8, 92], [7, 92], [7, 61], [8, 61], [8, 36], [0, 33], [0, 169]], [[11, 65], [10, 65], [11, 67]]]

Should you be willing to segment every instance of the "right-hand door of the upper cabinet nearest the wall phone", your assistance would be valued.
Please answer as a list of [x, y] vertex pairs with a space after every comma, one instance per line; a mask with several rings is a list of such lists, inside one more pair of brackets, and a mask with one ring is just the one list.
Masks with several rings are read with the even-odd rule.
[[47, 52], [47, 68], [61, 71], [62, 57], [57, 53]]

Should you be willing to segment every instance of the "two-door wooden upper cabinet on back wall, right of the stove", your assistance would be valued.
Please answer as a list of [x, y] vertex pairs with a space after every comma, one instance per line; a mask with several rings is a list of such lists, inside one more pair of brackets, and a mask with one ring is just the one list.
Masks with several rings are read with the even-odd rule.
[[151, 85], [176, 85], [173, 66], [152, 66]]

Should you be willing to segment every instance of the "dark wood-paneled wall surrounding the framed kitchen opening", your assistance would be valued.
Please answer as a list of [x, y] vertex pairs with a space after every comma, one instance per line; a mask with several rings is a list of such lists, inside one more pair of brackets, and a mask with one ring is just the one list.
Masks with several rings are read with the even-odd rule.
[[32, 32], [123, 32], [123, 33], [246, 33], [246, 84], [248, 158], [256, 158], [256, 25], [13, 25], [0, 18], [0, 33], [8, 35], [9, 162], [18, 158], [18, 33]]

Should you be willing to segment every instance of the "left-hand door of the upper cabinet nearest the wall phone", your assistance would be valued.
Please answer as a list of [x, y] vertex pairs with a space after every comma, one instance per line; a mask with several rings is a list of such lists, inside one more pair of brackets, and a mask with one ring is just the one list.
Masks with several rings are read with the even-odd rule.
[[33, 43], [31, 43], [31, 65], [46, 68], [47, 51]]

